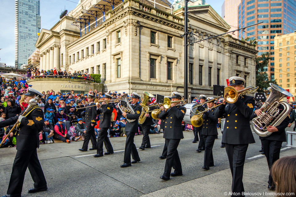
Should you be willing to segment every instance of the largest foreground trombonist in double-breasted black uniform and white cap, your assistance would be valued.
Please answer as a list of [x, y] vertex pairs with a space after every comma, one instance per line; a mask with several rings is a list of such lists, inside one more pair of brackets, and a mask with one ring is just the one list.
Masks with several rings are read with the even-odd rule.
[[[237, 91], [244, 89], [246, 80], [241, 77], [230, 77], [230, 86]], [[223, 101], [216, 111], [216, 118], [226, 115], [222, 142], [225, 143], [229, 166], [232, 174], [232, 193], [245, 196], [243, 185], [243, 170], [245, 157], [250, 143], [255, 143], [250, 127], [250, 117], [253, 114], [255, 99], [251, 96], [240, 96], [235, 103]]]

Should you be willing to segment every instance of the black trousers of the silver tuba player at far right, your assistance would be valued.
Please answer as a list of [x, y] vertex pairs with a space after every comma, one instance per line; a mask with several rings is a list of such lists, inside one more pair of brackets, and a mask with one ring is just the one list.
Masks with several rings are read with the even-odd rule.
[[280, 159], [280, 152], [282, 147], [281, 141], [275, 141], [275, 140], [268, 140], [268, 139], [261, 139], [261, 144], [264, 148], [265, 157], [267, 159], [268, 167], [269, 167], [269, 179], [268, 184], [273, 186], [273, 179], [270, 175], [270, 168], [273, 165], [273, 163]]

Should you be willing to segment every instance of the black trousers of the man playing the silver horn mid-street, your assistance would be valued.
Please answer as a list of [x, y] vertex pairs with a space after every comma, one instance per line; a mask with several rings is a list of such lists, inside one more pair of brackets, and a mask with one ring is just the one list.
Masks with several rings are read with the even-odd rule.
[[124, 149], [124, 163], [130, 163], [130, 154], [132, 154], [132, 158], [139, 160], [139, 154], [136, 148], [136, 145], [134, 144], [134, 137], [135, 133], [125, 131], [126, 135], [126, 141], [125, 141], [125, 149]]

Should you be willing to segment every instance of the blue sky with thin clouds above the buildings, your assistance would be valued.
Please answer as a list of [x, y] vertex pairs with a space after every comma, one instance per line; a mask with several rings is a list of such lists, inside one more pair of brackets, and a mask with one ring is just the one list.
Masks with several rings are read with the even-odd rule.
[[[71, 11], [78, 0], [40, 0], [41, 29], [51, 29], [60, 20], [61, 10]], [[221, 0], [206, 0], [221, 16]], [[14, 1], [0, 0], [0, 62], [14, 65]]]

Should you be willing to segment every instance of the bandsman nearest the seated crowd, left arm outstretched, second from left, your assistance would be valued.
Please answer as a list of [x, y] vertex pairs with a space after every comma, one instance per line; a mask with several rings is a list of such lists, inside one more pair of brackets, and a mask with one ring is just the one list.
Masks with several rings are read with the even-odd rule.
[[88, 142], [91, 140], [92, 142], [92, 148], [89, 150], [96, 150], [97, 149], [97, 140], [96, 140], [96, 135], [95, 135], [95, 125], [96, 125], [96, 108], [92, 107], [95, 106], [95, 103], [93, 102], [93, 95], [88, 94], [87, 95], [87, 101], [88, 104], [86, 104], [87, 108], [77, 108], [76, 111], [84, 111], [85, 110], [85, 126], [86, 126], [86, 133], [83, 141], [82, 148], [78, 149], [78, 151], [87, 151], [88, 147]]

